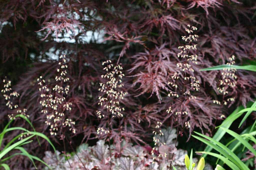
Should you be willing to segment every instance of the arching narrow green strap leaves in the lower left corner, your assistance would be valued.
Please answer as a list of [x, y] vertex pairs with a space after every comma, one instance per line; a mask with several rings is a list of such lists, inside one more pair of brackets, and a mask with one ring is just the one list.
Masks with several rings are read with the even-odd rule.
[[[49, 169], [51, 169], [48, 164], [46, 164], [44, 161], [39, 159], [37, 156], [33, 156], [33, 155], [29, 154], [26, 151], [26, 149], [24, 147], [22, 147], [22, 146], [25, 145], [25, 144], [31, 143], [33, 140], [30, 140], [30, 139], [33, 138], [34, 136], [36, 136], [36, 137], [39, 136], [39, 137], [47, 140], [50, 143], [50, 145], [52, 146], [52, 148], [54, 149], [54, 151], [56, 151], [54, 145], [51, 143], [49, 138], [47, 136], [45, 136], [43, 133], [36, 132], [35, 128], [32, 125], [32, 123], [24, 115], [16, 115], [15, 118], [17, 118], [17, 117], [21, 117], [21, 118], [25, 119], [30, 124], [30, 126], [33, 128], [34, 131], [29, 131], [29, 130], [27, 130], [25, 128], [22, 128], [22, 127], [11, 127], [11, 128], [8, 128], [9, 125], [13, 122], [14, 119], [10, 120], [8, 122], [8, 124], [5, 126], [5, 128], [3, 129], [3, 131], [0, 133], [0, 147], [1, 147], [2, 143], [3, 143], [4, 135], [7, 132], [13, 131], [13, 130], [22, 130], [24, 132], [20, 133], [19, 135], [14, 137], [12, 140], [10, 140], [5, 145], [4, 149], [2, 149], [0, 151], [0, 165], [5, 170], [8, 170], [8, 169], [10, 169], [10, 167], [7, 164], [4, 163], [5, 161], [9, 160], [10, 158], [12, 158], [12, 157], [14, 157], [16, 155], [24, 155], [24, 156], [27, 156], [31, 160], [31, 162], [33, 163], [33, 165], [35, 166], [36, 169], [37, 169], [37, 167], [35, 165], [34, 160], [40, 161], [41, 163], [45, 164]], [[22, 137], [25, 137], [25, 138], [22, 139]], [[19, 141], [15, 142], [16, 140], [19, 140]], [[38, 138], [37, 138], [37, 140], [38, 140]], [[38, 140], [38, 143], [40, 145], [39, 140]], [[19, 150], [21, 152], [15, 153], [13, 155], [5, 157], [7, 155], [7, 153], [9, 153], [12, 150]], [[5, 158], [3, 158], [3, 157], [5, 157]]]

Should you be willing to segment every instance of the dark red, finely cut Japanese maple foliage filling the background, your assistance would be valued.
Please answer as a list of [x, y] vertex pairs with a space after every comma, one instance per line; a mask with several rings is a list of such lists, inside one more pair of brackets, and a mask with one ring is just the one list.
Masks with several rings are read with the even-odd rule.
[[[225, 64], [232, 55], [236, 56], [236, 65], [255, 60], [254, 1], [3, 0], [0, 7], [0, 79], [7, 76], [16, 84], [14, 90], [20, 93], [16, 102], [27, 109], [36, 131], [55, 141], [57, 148], [60, 140], [49, 135], [49, 127], [44, 123], [46, 117], [40, 113], [36, 79], [42, 75], [50, 87], [54, 86], [61, 54], [68, 58], [71, 80], [67, 100], [73, 103], [70, 118], [76, 121], [77, 133], [67, 131], [66, 135], [73, 146], [83, 142], [95, 144], [97, 128], [107, 122], [103, 119], [99, 124], [96, 115], [99, 82], [103, 81], [100, 76], [104, 74], [101, 62], [106, 59], [122, 63], [126, 75], [122, 89], [128, 92], [123, 102], [124, 117], [114, 122], [112, 128], [117, 131], [117, 125], [122, 123], [121, 134], [127, 141], [150, 143], [157, 120], [164, 126], [179, 126], [180, 136], [184, 135], [179, 140], [189, 139], [195, 129], [211, 136], [221, 115], [231, 113], [228, 107], [232, 111], [255, 99], [255, 73], [237, 70], [237, 86], [229, 92], [236, 100], [232, 105], [222, 106], [212, 102], [230, 97], [223, 97], [217, 90], [220, 72], [199, 71]], [[175, 114], [166, 112], [170, 106], [174, 113], [180, 107], [179, 99], [168, 97], [167, 83], [178, 70], [176, 64], [180, 59], [176, 54], [180, 52], [178, 46], [184, 45], [181, 36], [186, 35], [184, 28], [188, 24], [198, 28], [198, 65], [192, 68], [200, 81], [200, 91], [193, 94], [196, 100], [183, 103], [188, 114], [177, 119]], [[4, 127], [10, 111], [0, 97], [0, 123]], [[185, 127], [188, 121], [190, 128]], [[27, 126], [21, 120], [14, 124]], [[9, 135], [6, 142], [17, 134]], [[50, 149], [47, 142], [42, 144], [39, 148], [34, 142], [27, 150], [42, 157]], [[13, 157], [13, 168], [32, 166], [24, 159]]]

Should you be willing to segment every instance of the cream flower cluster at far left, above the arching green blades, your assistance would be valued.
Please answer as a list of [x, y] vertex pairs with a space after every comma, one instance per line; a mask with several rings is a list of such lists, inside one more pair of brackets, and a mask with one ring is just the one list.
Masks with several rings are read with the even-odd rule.
[[[3, 93], [3, 96], [6, 100], [6, 106], [8, 106], [11, 110], [12, 109], [17, 109], [17, 114], [22, 114], [26, 117], [29, 117], [28, 115], [26, 115], [26, 112], [27, 112], [27, 109], [19, 109], [18, 105], [17, 104], [13, 104], [12, 100], [14, 98], [18, 98], [19, 97], [19, 93], [17, 93], [16, 91], [14, 92], [11, 92], [12, 91], [12, 88], [11, 88], [11, 84], [12, 82], [11, 81], [6, 81], [5, 79], [3, 80], [3, 83], [4, 84], [4, 89], [1, 90], [1, 92]], [[9, 94], [8, 94], [9, 93]], [[15, 115], [12, 113], [12, 114], [8, 114], [8, 118], [10, 120], [12, 119], [15, 119]]]

